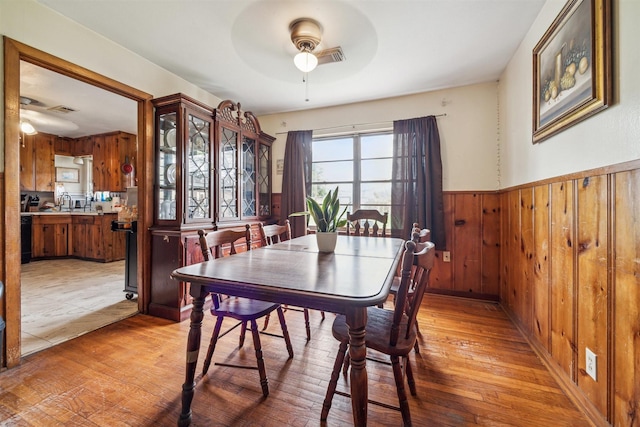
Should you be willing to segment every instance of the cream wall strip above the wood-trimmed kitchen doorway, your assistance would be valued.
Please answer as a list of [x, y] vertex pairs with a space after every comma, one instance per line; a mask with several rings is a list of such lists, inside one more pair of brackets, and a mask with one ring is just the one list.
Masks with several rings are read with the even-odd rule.
[[[207, 105], [221, 99], [34, 0], [0, 0], [0, 34], [160, 97], [182, 92]], [[0, 53], [2, 46], [0, 46]], [[3, 79], [3, 67], [0, 78]], [[0, 103], [4, 103], [0, 89]], [[4, 115], [0, 116], [4, 129]], [[4, 170], [4, 131], [0, 170]]]

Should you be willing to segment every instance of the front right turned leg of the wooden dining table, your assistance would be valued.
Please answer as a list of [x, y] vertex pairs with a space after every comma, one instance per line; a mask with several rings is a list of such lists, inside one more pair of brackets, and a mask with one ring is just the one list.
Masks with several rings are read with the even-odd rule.
[[365, 325], [367, 309], [353, 308], [346, 314], [349, 326], [349, 357], [351, 358], [351, 408], [353, 424], [367, 425], [367, 402], [369, 389], [367, 379], [367, 347], [365, 345]]

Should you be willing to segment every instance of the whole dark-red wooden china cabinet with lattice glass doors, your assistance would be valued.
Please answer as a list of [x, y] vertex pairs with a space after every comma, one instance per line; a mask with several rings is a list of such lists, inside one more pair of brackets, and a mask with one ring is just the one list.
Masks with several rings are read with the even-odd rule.
[[[155, 106], [155, 193], [149, 314], [176, 321], [191, 313], [176, 268], [202, 261], [197, 230], [243, 227], [271, 215], [271, 144], [240, 104], [214, 109], [185, 95]], [[254, 241], [259, 241], [255, 239]]]

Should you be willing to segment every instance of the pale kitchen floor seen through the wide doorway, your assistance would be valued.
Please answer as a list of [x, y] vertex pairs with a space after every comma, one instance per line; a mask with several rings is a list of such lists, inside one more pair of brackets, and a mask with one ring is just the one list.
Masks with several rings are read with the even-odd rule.
[[125, 297], [124, 261], [42, 260], [21, 269], [22, 356], [138, 312], [137, 295]]

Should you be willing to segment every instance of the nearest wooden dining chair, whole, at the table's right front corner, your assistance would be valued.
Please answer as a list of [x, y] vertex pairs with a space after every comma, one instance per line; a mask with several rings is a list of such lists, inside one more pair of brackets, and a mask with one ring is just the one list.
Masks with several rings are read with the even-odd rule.
[[[435, 249], [433, 243], [407, 241], [402, 260], [402, 275], [400, 288], [398, 289], [397, 304], [394, 310], [385, 310], [378, 307], [367, 308], [365, 345], [367, 351], [372, 349], [389, 356], [393, 368], [399, 407], [392, 407], [375, 401], [370, 401], [370, 403], [399, 410], [405, 426], [411, 425], [409, 402], [404, 387], [405, 376], [411, 395], [415, 396], [417, 393], [408, 355], [417, 339], [416, 318], [429, 281], [434, 258]], [[415, 269], [413, 268], [414, 265]], [[408, 298], [412, 281], [415, 283], [413, 304], [407, 306], [405, 302]], [[409, 309], [405, 310], [405, 307], [409, 307]], [[349, 345], [349, 328], [344, 315], [336, 316], [332, 326], [332, 333], [340, 341], [340, 346], [333, 365], [327, 394], [322, 405], [321, 421], [326, 421], [335, 394], [350, 397], [348, 393], [336, 391], [340, 368], [345, 361]]]

